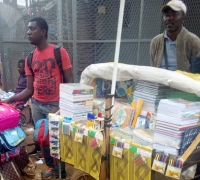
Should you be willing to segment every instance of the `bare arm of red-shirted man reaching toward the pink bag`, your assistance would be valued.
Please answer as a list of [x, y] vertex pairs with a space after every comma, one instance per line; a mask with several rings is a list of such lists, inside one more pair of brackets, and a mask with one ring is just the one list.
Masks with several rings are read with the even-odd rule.
[[23, 101], [28, 98], [30, 98], [33, 95], [34, 88], [33, 88], [33, 76], [27, 76], [27, 87], [24, 89], [21, 93], [12, 96], [9, 99], [6, 99], [2, 102], [4, 103], [10, 103], [10, 102], [16, 102], [16, 101]]

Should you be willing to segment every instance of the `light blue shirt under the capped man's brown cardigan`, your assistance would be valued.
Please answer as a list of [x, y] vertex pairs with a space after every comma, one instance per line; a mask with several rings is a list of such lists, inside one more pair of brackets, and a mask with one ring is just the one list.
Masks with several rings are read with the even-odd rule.
[[[177, 60], [176, 60], [176, 41], [172, 41], [168, 36], [167, 32], [164, 33], [165, 38], [165, 50], [167, 54], [168, 70], [177, 70]], [[161, 62], [161, 68], [166, 69], [165, 58], [163, 53], [163, 58]]]

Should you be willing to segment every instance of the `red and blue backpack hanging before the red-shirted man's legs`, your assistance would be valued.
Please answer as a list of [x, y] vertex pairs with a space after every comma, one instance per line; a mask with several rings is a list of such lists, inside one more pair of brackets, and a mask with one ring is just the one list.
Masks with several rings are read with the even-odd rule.
[[49, 121], [40, 119], [35, 123], [33, 141], [42, 147], [49, 146]]

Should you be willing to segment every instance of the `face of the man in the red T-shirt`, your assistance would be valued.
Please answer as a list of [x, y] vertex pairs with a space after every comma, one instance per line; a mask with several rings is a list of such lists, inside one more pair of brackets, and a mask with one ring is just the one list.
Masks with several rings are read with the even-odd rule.
[[45, 36], [46, 31], [41, 29], [35, 21], [28, 23], [28, 40], [33, 45], [38, 45], [43, 37]]

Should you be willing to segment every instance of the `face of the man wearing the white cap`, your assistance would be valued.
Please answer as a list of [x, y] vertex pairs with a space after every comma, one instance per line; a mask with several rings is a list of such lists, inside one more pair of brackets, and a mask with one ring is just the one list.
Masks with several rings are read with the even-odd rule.
[[168, 32], [176, 32], [183, 25], [184, 15], [182, 11], [174, 11], [171, 8], [166, 9], [163, 13], [165, 29]]

